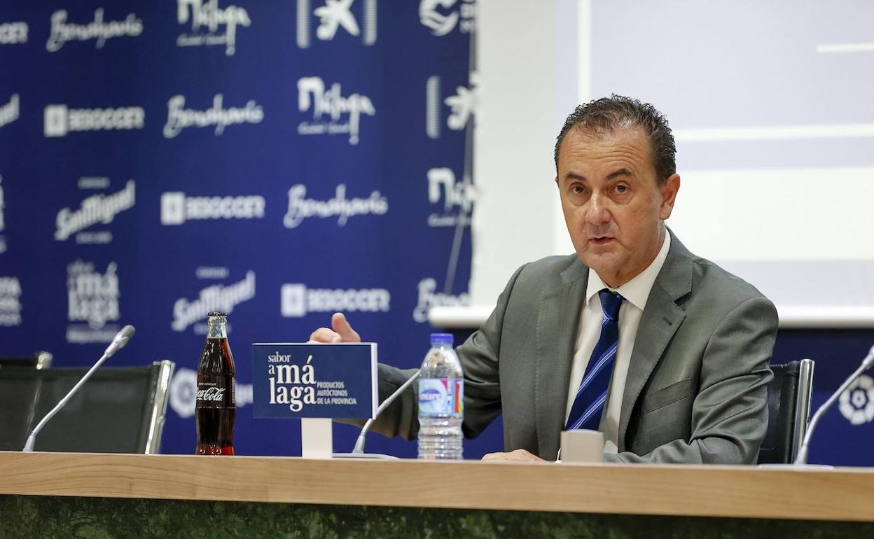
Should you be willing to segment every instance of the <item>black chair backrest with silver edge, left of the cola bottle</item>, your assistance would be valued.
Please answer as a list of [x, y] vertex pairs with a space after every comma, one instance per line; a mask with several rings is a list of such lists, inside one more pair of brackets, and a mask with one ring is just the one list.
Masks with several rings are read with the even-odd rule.
[[[158, 453], [174, 363], [97, 370], [37, 436], [35, 451]], [[0, 450], [20, 451], [87, 368], [0, 369]]]

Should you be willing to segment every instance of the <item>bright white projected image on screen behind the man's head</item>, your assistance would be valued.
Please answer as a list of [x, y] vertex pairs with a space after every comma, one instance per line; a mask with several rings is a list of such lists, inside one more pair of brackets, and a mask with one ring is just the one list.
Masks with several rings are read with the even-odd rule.
[[[579, 98], [669, 118], [669, 226], [783, 327], [874, 321], [874, 3], [581, 0]], [[557, 232], [560, 233], [560, 232]]]

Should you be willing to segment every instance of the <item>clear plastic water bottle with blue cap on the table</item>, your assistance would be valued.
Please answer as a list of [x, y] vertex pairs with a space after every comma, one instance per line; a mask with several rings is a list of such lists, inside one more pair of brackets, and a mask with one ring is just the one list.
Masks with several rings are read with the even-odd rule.
[[464, 377], [452, 335], [431, 334], [419, 377], [419, 458], [459, 460], [464, 419]]

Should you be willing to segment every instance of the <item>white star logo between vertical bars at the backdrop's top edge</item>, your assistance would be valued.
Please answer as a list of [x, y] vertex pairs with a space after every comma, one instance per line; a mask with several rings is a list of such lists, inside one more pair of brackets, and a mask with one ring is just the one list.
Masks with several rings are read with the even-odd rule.
[[315, 10], [310, 0], [297, 0], [297, 46], [302, 49], [311, 45], [311, 26], [313, 19], [318, 18], [316, 38], [321, 41], [332, 41], [342, 29], [344, 33], [355, 38], [361, 37], [364, 45], [377, 42], [377, 0], [362, 0], [361, 20], [359, 27], [352, 13], [352, 3], [355, 0], [324, 0]]

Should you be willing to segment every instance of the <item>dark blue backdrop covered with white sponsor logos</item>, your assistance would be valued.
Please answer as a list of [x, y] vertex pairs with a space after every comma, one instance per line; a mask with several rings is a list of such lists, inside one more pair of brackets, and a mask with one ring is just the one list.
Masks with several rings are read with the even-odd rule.
[[0, 356], [84, 366], [133, 324], [108, 366], [177, 363], [163, 452], [191, 453], [222, 310], [238, 453], [299, 454], [297, 421], [252, 418], [252, 342], [344, 310], [409, 368], [428, 309], [468, 301], [475, 23], [472, 0], [4, 4]]

